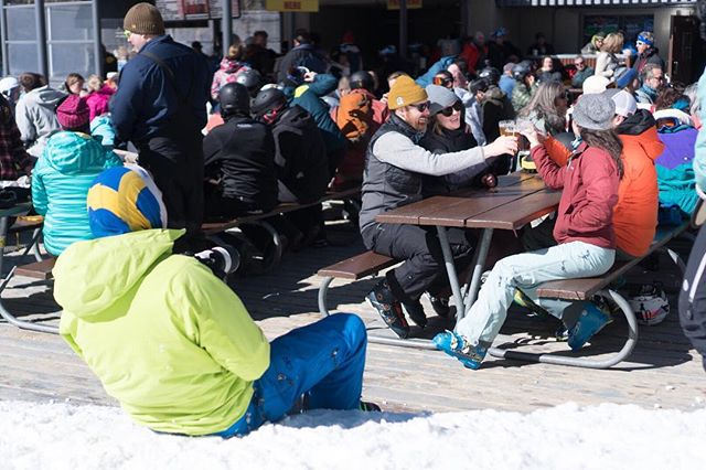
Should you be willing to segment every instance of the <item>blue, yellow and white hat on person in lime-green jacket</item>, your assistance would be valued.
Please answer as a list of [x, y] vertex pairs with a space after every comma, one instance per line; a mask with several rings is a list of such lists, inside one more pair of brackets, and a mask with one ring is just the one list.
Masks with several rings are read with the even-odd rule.
[[88, 190], [88, 222], [96, 238], [165, 228], [162, 193], [140, 167], [105, 170]]

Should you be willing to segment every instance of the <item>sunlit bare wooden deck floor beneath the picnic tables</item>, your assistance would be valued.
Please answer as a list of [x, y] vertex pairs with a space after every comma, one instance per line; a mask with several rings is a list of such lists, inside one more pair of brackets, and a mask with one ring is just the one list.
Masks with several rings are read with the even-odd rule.
[[[335, 232], [332, 239], [338, 246], [289, 254], [271, 274], [237, 280], [236, 291], [269, 338], [315, 321], [320, 282], [315, 271], [363, 250], [352, 232]], [[678, 276], [667, 261], [663, 260], [662, 267], [659, 273], [637, 275], [659, 276], [675, 291]], [[12, 285], [26, 281], [17, 278]], [[355, 312], [366, 321], [371, 334], [386, 334], [372, 308], [362, 301], [374, 282], [373, 279], [354, 284], [334, 281], [329, 295], [330, 308]], [[4, 297], [15, 297], [8, 305], [13, 311], [30, 316], [56, 308], [44, 287], [9, 289]], [[530, 412], [566, 402], [678, 409], [703, 407], [706, 406], [706, 373], [700, 357], [681, 332], [675, 302], [672, 308], [674, 311], [664, 323], [641, 328], [630, 362], [607, 371], [495, 359], [486, 360], [479, 371], [468, 371], [438, 352], [370, 344], [364, 396], [386, 409], [434, 412], [478, 408]], [[438, 329], [452, 327], [438, 318], [430, 323], [432, 328], [428, 330], [431, 331], [425, 332], [427, 338]], [[625, 329], [624, 320], [618, 319], [600, 333], [597, 344], [587, 352], [600, 355], [617, 351]], [[553, 330], [554, 323], [511, 310], [496, 345], [523, 346], [523, 351], [542, 346], [570, 354], [566, 344], [554, 342], [550, 335], [547, 338]], [[0, 399], [115, 405], [58, 337], [0, 323]]]

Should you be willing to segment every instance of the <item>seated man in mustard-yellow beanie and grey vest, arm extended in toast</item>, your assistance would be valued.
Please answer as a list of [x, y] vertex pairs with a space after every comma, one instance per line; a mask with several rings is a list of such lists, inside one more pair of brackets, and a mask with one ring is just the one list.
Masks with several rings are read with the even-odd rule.
[[[375, 216], [421, 200], [425, 175], [441, 177], [485, 165], [486, 159], [514, 153], [517, 141], [514, 137], [500, 137], [485, 147], [435, 154], [417, 145], [430, 117], [425, 89], [410, 77], [400, 76], [389, 90], [387, 106], [389, 119], [367, 147], [360, 227], [368, 249], [405, 260], [386, 274], [367, 299], [395, 334], [407, 338], [409, 325], [403, 305], [409, 318], [424, 328], [427, 318], [419, 298], [438, 284], [437, 278], [445, 279], [441, 246], [432, 227], [379, 224]], [[472, 241], [459, 228], [448, 229], [448, 237], [457, 267], [463, 268], [471, 261]]]

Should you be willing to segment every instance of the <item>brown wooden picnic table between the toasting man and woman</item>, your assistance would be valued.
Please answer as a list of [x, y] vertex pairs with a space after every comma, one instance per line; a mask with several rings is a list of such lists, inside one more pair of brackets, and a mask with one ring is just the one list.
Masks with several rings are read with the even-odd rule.
[[[515, 172], [498, 179], [489, 190], [462, 190], [388, 211], [375, 217], [386, 224], [436, 226], [443, 261], [457, 306], [457, 321], [475, 301], [481, 274], [488, 258], [493, 231], [516, 231], [531, 221], [556, 210], [561, 193], [546, 188], [537, 174]], [[467, 289], [461, 292], [447, 227], [481, 228], [481, 242], [473, 257], [473, 271]], [[463, 306], [463, 308], [461, 308]]]

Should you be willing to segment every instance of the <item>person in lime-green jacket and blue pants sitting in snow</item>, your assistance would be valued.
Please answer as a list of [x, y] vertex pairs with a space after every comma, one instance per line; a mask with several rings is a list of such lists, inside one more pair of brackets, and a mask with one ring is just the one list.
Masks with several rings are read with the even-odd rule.
[[238, 297], [163, 229], [159, 190], [141, 169], [101, 173], [88, 193], [96, 239], [54, 268], [61, 334], [139, 424], [191, 436], [244, 435], [304, 409], [361, 403], [366, 334], [335, 314], [271, 343]]

